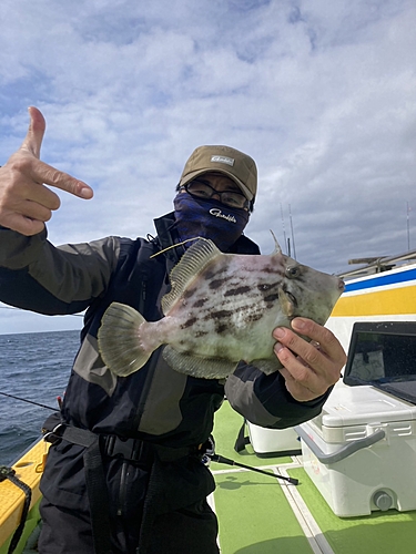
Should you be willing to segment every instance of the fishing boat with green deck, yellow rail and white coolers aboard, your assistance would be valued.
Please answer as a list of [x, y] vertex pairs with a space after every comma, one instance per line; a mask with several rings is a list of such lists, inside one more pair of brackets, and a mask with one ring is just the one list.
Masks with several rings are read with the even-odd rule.
[[[219, 517], [222, 554], [414, 552], [416, 371], [408, 351], [416, 348], [416, 250], [367, 260], [341, 277], [346, 289], [327, 327], [349, 356], [323, 413], [292, 430], [256, 429], [226, 400], [216, 414], [217, 461], [210, 464], [216, 490], [209, 500]], [[403, 337], [410, 337], [409, 350], [399, 375], [388, 378], [381, 348], [402, 348]], [[359, 370], [368, 367], [364, 378]], [[236, 452], [241, 430], [245, 445]], [[12, 466], [32, 489], [19, 554], [35, 552], [45, 448], [37, 442]], [[6, 554], [24, 494], [6, 479], [0, 497], [0, 554]]]

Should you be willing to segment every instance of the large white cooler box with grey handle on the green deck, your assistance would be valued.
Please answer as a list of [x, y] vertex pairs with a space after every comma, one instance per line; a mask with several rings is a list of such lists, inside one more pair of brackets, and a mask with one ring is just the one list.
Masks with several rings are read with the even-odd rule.
[[416, 510], [416, 406], [369, 386], [341, 387], [295, 429], [305, 471], [336, 515]]

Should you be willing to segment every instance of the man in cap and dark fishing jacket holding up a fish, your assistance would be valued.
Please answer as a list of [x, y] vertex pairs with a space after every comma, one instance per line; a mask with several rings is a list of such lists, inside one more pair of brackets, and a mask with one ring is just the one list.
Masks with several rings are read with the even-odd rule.
[[[116, 378], [101, 360], [97, 335], [112, 301], [148, 320], [162, 317], [169, 271], [189, 238], [258, 254], [242, 234], [256, 194], [255, 163], [226, 146], [196, 148], [174, 212], [155, 220], [155, 239], [106, 237], [55, 248], [44, 223], [60, 202], [43, 183], [81, 198], [93, 193], [39, 160], [44, 120], [34, 107], [30, 117], [22, 146], [0, 168], [0, 299], [41, 314], [87, 309], [41, 483], [40, 552], [217, 553], [216, 519], [205, 501], [214, 483], [201, 463], [201, 444], [224, 384], [173, 371], [161, 349], [140, 371]], [[292, 326], [314, 342], [291, 329], [271, 329], [284, 369], [265, 376], [240, 363], [225, 383], [231, 404], [256, 424], [278, 429], [318, 414], [345, 363], [331, 331], [304, 318]]]

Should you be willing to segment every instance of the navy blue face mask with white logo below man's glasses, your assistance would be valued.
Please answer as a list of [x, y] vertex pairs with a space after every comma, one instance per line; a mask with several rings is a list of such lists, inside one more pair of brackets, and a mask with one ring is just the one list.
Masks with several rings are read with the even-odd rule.
[[[182, 240], [187, 238], [211, 238], [222, 252], [235, 243], [248, 222], [248, 212], [235, 209], [215, 199], [202, 201], [181, 193], [173, 201], [176, 229]], [[184, 246], [190, 247], [192, 242]]]

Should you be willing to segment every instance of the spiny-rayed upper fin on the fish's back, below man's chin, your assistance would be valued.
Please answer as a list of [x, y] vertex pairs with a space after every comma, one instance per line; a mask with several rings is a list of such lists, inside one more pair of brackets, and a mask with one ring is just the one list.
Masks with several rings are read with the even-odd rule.
[[186, 287], [205, 267], [217, 256], [224, 256], [215, 244], [207, 239], [200, 239], [182, 256], [170, 274], [172, 289], [162, 298], [162, 310], [166, 315]]

